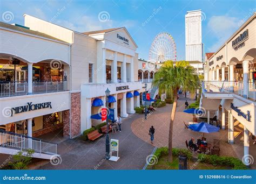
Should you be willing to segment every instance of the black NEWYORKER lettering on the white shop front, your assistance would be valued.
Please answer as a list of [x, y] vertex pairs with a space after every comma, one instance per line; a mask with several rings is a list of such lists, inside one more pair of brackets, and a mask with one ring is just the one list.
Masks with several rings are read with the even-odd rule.
[[45, 108], [52, 109], [51, 102], [44, 102], [44, 103], [37, 103], [37, 104], [32, 104], [32, 102], [28, 102], [27, 104], [28, 105], [12, 108], [11, 116], [14, 116], [14, 114], [19, 114], [22, 112], [28, 112], [28, 111], [38, 110], [38, 109], [45, 109]]

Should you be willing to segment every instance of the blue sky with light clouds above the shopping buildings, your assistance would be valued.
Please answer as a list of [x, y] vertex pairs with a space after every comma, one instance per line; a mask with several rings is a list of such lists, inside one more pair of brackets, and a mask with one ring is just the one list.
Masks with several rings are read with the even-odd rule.
[[[4, 15], [11, 12], [11, 18], [7, 19], [10, 24], [24, 25], [23, 14], [26, 13], [79, 32], [125, 26], [139, 47], [139, 58], [144, 59], [148, 59], [151, 43], [160, 32], [172, 35], [177, 45], [177, 60], [185, 59], [186, 11], [203, 11], [202, 32], [205, 52], [215, 52], [256, 11], [254, 0], [0, 2], [1, 21], [6, 22]], [[102, 18], [99, 15], [102, 15]]]

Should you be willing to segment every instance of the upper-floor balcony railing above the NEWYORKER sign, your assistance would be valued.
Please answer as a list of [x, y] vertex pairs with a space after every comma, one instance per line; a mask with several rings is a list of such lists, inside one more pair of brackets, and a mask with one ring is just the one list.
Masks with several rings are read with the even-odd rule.
[[[33, 82], [32, 94], [66, 91], [66, 81], [63, 82]], [[0, 97], [19, 96], [28, 94], [28, 82], [0, 83]]]

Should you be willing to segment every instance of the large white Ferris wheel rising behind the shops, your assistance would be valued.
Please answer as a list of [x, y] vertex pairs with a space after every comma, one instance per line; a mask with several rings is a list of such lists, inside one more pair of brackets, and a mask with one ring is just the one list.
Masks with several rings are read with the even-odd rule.
[[154, 37], [151, 44], [149, 60], [156, 63], [161, 63], [166, 60], [176, 61], [176, 53], [176, 44], [171, 34], [165, 32], [159, 33]]

